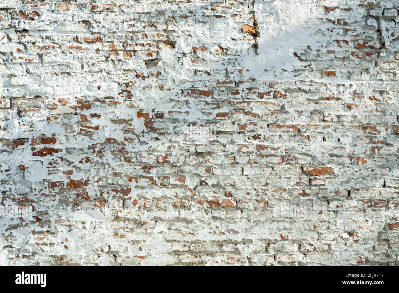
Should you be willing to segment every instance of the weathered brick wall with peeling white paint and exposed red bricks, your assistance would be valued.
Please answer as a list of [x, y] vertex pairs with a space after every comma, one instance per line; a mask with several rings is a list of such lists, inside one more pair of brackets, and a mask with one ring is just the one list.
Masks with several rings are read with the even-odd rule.
[[398, 9], [0, 0], [0, 263], [398, 264]]

